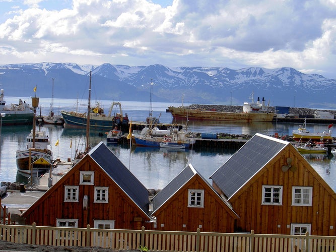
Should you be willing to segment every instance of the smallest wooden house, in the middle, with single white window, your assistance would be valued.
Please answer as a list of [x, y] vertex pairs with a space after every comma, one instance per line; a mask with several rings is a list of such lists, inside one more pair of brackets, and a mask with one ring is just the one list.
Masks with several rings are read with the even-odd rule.
[[189, 164], [153, 199], [154, 230], [232, 232], [238, 216]]

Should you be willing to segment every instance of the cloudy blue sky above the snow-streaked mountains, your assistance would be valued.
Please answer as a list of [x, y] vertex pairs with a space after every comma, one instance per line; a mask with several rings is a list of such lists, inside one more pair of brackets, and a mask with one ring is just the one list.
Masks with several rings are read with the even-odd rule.
[[0, 0], [0, 65], [30, 62], [336, 79], [336, 0]]

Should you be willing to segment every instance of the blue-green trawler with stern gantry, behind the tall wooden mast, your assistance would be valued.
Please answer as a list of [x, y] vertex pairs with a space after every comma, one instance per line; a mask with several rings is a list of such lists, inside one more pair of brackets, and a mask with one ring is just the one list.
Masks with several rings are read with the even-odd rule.
[[[118, 113], [112, 115], [112, 110], [114, 106], [119, 106]], [[121, 103], [112, 102], [108, 114], [104, 114], [104, 109], [100, 106], [100, 103], [96, 103], [95, 106], [90, 107], [90, 112], [80, 113], [77, 111], [60, 111], [62, 114], [65, 125], [72, 127], [86, 127], [88, 115], [90, 113], [90, 129], [94, 130], [110, 130], [114, 125], [125, 124], [128, 125], [128, 116], [125, 114], [123, 116]]]

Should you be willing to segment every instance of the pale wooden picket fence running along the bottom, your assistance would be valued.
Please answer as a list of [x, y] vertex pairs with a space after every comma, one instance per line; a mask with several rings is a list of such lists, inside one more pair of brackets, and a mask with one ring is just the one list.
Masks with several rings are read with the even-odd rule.
[[119, 229], [0, 225], [0, 239], [34, 245], [98, 246], [150, 251], [319, 251], [336, 250], [336, 236], [251, 233], [168, 232]]

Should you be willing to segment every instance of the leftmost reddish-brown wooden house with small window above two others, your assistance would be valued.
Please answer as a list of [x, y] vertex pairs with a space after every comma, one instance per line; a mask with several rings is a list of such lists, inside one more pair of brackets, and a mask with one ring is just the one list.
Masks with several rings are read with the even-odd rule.
[[22, 216], [26, 224], [141, 229], [149, 225], [146, 187], [101, 142]]

